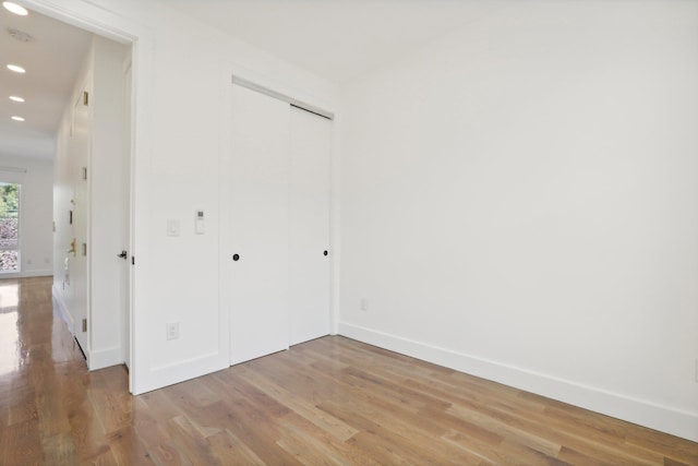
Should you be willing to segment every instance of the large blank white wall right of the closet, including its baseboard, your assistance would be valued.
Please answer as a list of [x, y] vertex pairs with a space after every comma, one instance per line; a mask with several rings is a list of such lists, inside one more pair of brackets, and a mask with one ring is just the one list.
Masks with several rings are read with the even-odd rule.
[[698, 440], [697, 31], [501, 3], [348, 86], [340, 333]]

